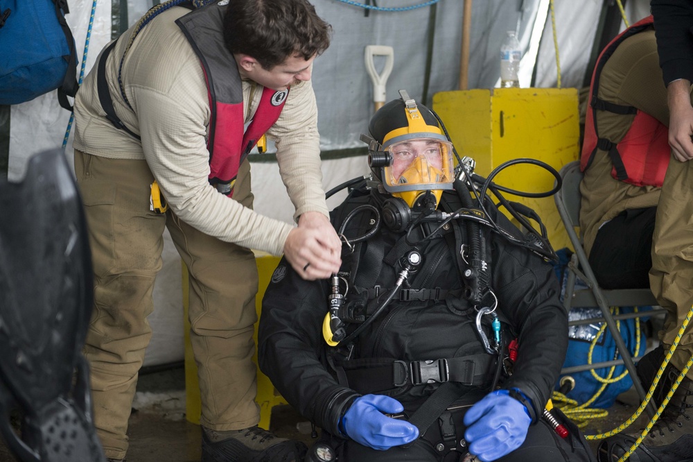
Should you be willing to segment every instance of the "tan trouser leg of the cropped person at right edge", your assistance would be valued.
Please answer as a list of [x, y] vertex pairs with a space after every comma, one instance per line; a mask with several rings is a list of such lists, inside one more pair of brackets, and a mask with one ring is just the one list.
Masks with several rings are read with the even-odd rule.
[[[672, 157], [662, 187], [653, 236], [650, 285], [669, 311], [660, 339], [668, 348], [693, 304], [693, 162]], [[682, 370], [693, 354], [693, 324], [689, 325], [672, 357]], [[688, 378], [693, 379], [693, 368]]]

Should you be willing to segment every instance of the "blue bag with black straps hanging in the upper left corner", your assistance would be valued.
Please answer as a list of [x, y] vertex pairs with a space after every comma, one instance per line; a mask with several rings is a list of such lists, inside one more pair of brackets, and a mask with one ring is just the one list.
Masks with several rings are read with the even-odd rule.
[[0, 0], [0, 104], [19, 104], [58, 89], [71, 110], [77, 54], [64, 15], [67, 0]]

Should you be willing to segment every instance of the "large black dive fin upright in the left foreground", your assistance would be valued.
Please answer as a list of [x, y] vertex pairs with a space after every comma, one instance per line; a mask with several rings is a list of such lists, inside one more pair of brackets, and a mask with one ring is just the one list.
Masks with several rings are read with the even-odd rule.
[[105, 461], [82, 356], [92, 291], [73, 175], [61, 151], [35, 155], [22, 182], [0, 179], [0, 433], [20, 461]]

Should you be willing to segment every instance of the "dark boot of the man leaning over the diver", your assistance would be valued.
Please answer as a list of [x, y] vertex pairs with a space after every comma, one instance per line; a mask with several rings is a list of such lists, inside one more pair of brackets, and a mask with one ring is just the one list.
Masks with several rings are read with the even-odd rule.
[[308, 447], [260, 427], [215, 431], [202, 427], [202, 462], [302, 462]]

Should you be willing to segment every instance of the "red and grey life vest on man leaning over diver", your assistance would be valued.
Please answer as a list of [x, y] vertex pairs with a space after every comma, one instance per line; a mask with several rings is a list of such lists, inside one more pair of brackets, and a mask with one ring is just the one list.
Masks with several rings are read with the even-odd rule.
[[176, 20], [200, 57], [209, 93], [209, 182], [227, 196], [234, 192], [238, 167], [259, 139], [279, 119], [289, 90], [265, 87], [244, 132], [243, 85], [234, 55], [224, 43], [225, 6], [211, 3]]

